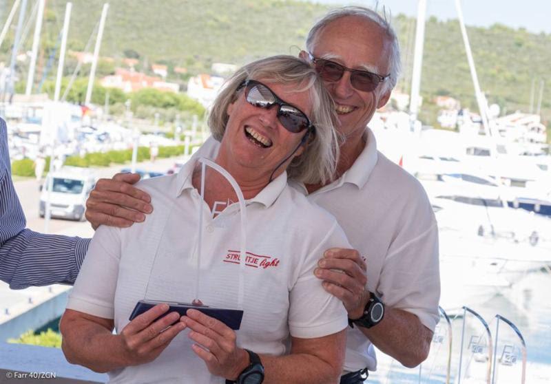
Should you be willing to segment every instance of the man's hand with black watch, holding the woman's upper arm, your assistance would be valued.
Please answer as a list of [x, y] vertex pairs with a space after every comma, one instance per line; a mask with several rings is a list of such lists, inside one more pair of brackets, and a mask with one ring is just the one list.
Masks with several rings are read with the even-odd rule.
[[362, 316], [369, 292], [366, 290], [366, 263], [357, 250], [326, 250], [314, 274], [323, 280], [322, 286], [327, 292], [342, 301], [350, 319]]

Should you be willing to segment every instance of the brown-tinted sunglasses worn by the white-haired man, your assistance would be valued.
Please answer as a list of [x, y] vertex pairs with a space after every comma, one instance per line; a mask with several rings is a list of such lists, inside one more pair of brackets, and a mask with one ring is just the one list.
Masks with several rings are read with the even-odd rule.
[[352, 70], [334, 61], [314, 57], [311, 53], [308, 55], [312, 63], [314, 63], [316, 72], [318, 72], [325, 81], [330, 81], [331, 83], [339, 81], [344, 72], [348, 71], [350, 72], [350, 82], [358, 91], [372, 92], [380, 83], [388, 78], [388, 76], [391, 76], [390, 74], [381, 76], [369, 71]]

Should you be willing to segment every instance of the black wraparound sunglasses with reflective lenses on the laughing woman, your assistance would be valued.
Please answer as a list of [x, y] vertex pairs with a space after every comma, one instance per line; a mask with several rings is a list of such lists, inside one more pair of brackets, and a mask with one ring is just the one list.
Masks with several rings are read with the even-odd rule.
[[280, 99], [267, 85], [260, 83], [260, 81], [247, 80], [238, 89], [242, 87], [245, 87], [245, 100], [250, 105], [264, 109], [278, 105], [278, 120], [287, 131], [298, 134], [304, 129], [314, 128], [303, 111]]

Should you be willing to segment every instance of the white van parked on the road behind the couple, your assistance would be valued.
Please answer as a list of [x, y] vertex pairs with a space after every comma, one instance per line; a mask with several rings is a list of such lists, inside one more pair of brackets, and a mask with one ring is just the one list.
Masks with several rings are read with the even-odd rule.
[[[52, 175], [53, 186], [50, 195], [50, 217], [84, 221], [86, 200], [96, 184], [94, 171], [80, 167], [61, 167]], [[39, 213], [44, 217], [50, 173], [46, 176], [40, 195]]]

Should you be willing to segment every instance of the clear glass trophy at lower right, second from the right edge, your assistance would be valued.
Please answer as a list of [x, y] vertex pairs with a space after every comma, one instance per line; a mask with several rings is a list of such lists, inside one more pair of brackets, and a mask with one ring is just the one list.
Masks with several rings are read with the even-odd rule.
[[488, 323], [474, 310], [463, 307], [457, 384], [490, 383], [492, 334]]

